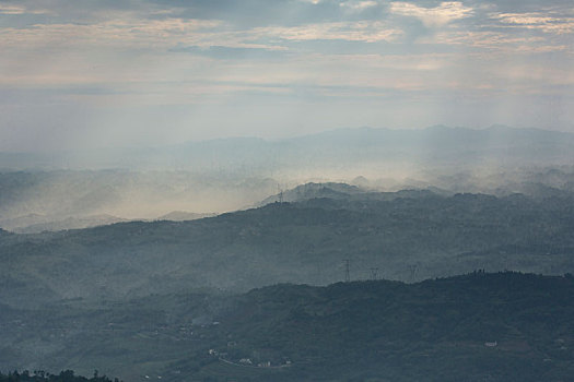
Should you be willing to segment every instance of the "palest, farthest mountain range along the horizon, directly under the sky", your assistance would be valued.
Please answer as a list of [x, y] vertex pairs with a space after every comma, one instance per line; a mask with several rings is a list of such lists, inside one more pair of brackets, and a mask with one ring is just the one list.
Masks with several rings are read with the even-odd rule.
[[423, 130], [340, 129], [294, 139], [230, 138], [166, 147], [60, 153], [1, 153], [0, 169], [233, 171], [338, 170], [385, 164], [464, 167], [572, 164], [574, 134], [494, 126], [483, 130], [436, 126]]

